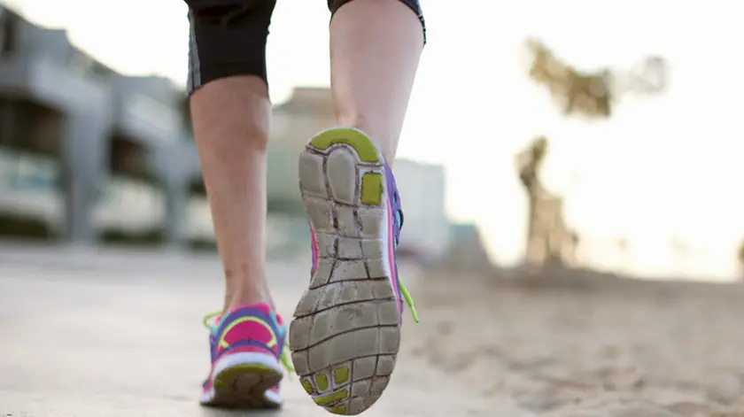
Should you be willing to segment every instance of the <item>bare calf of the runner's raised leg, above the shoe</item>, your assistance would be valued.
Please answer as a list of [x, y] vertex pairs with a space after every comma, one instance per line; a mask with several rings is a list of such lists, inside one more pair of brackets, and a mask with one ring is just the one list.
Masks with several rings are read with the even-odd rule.
[[373, 137], [395, 158], [424, 31], [417, 1], [337, 1], [330, 21], [330, 73], [338, 123]]

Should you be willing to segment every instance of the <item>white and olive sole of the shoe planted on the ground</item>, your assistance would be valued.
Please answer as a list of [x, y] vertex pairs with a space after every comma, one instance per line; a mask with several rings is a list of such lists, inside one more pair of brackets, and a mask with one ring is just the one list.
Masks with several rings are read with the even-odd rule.
[[[252, 353], [236, 353], [215, 364], [213, 389], [206, 391], [201, 404], [217, 408], [274, 409], [281, 406], [278, 398], [269, 398], [267, 390], [282, 381], [283, 373], [276, 367], [261, 363], [266, 360], [247, 359]], [[276, 360], [266, 356], [269, 360]], [[260, 358], [263, 359], [263, 358]], [[220, 369], [222, 368], [222, 369]]]

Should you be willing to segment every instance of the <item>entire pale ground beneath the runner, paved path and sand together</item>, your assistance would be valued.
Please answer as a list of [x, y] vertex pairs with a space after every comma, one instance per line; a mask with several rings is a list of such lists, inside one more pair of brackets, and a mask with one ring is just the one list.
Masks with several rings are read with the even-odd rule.
[[[269, 264], [283, 313], [305, 289], [307, 262]], [[0, 375], [0, 415], [203, 415], [199, 320], [220, 300], [219, 269], [215, 257], [0, 244], [0, 296], [12, 294], [0, 297], [12, 319], [0, 334], [14, 335], [0, 344], [0, 374], [11, 375]], [[365, 415], [744, 417], [744, 284], [579, 275], [515, 285], [401, 269], [422, 322], [407, 319], [391, 385]], [[24, 301], [32, 295], [38, 303]], [[55, 349], [43, 351], [50, 334]], [[29, 354], [43, 360], [23, 362]], [[284, 414], [325, 413], [298, 383], [285, 387]]]

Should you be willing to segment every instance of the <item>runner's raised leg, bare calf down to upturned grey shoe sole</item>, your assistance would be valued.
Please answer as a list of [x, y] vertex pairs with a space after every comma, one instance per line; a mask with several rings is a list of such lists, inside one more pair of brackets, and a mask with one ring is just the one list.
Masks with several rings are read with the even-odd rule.
[[403, 218], [388, 162], [424, 30], [416, 1], [329, 0], [329, 6], [331, 88], [342, 127], [316, 135], [300, 155], [314, 268], [291, 324], [290, 348], [317, 405], [358, 414], [387, 386], [408, 300], [395, 260]]

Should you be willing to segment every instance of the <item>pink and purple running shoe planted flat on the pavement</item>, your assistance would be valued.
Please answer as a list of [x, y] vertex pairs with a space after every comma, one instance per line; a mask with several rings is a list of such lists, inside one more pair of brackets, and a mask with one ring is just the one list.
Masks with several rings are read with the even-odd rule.
[[283, 363], [292, 371], [284, 344], [286, 327], [270, 305], [261, 303], [209, 314], [212, 370], [204, 382], [202, 405], [224, 408], [278, 408]]

